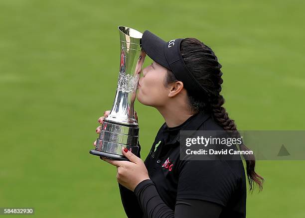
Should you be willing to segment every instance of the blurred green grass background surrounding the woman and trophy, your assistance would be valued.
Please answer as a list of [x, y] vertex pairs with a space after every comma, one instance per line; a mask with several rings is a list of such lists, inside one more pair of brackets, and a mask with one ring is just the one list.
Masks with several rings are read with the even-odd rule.
[[[119, 25], [209, 45], [240, 130], [305, 129], [304, 9], [301, 0], [0, 0], [0, 207], [126, 217], [115, 167], [88, 153], [115, 97]], [[144, 159], [164, 120], [135, 109]], [[304, 218], [304, 168], [258, 161], [266, 182], [248, 195], [247, 217]]]

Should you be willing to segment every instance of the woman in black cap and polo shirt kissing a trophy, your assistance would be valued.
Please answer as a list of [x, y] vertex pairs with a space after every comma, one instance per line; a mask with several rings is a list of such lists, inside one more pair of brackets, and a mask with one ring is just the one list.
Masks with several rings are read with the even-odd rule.
[[[180, 130], [237, 130], [222, 107], [223, 82], [214, 52], [195, 38], [168, 42], [146, 30], [143, 50], [153, 60], [143, 69], [137, 98], [156, 108], [165, 122], [145, 162], [127, 149], [130, 161], [102, 158], [117, 167], [129, 218], [245, 218], [246, 178], [242, 160], [179, 158]], [[99, 118], [99, 123], [109, 114]], [[138, 118], [135, 113], [135, 117]], [[100, 126], [96, 130], [100, 133]], [[94, 142], [94, 145], [96, 142]], [[241, 149], [247, 149], [241, 145]], [[262, 189], [254, 156], [245, 156], [250, 190]]]

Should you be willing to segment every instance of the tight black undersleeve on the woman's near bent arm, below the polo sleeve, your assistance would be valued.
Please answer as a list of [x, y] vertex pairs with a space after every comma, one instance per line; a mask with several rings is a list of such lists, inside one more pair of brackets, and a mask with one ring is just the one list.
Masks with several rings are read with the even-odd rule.
[[136, 187], [135, 194], [146, 218], [218, 218], [222, 211], [218, 204], [192, 199], [177, 199], [172, 211], [149, 179]]

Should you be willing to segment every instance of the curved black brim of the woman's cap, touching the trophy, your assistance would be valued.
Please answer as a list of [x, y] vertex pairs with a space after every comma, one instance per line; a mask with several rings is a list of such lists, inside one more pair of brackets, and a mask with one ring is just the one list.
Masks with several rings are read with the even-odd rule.
[[143, 33], [141, 41], [143, 50], [152, 60], [171, 70], [164, 54], [164, 46], [167, 42], [148, 30]]

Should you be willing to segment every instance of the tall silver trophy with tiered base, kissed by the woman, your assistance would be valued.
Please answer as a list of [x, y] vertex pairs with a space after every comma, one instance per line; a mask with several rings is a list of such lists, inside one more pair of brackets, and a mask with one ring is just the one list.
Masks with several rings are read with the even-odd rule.
[[122, 147], [136, 155], [139, 152], [139, 124], [134, 116], [134, 103], [145, 53], [141, 50], [141, 32], [126, 26], [118, 28], [121, 58], [117, 93], [111, 112], [104, 118], [96, 147], [89, 153], [128, 160], [122, 154]]

